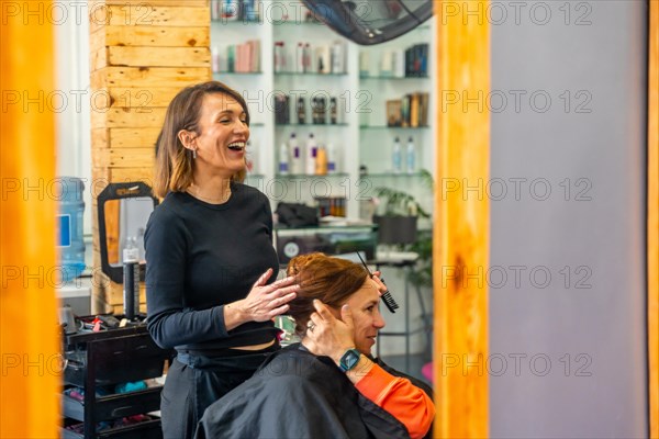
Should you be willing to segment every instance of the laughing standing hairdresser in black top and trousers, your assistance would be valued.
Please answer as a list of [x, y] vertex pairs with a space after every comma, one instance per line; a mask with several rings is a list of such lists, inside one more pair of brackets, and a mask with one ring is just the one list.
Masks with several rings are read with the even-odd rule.
[[295, 297], [276, 281], [266, 195], [242, 184], [249, 113], [216, 81], [169, 104], [154, 192], [164, 201], [145, 234], [148, 330], [176, 348], [161, 394], [165, 438], [190, 438], [204, 409], [279, 349], [272, 317]]

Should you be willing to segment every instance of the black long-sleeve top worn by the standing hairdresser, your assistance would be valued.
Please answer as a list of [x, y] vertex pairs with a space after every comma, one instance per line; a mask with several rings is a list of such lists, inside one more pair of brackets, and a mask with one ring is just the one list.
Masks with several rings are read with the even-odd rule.
[[224, 305], [244, 299], [268, 269], [278, 272], [265, 194], [232, 183], [224, 204], [170, 192], [152, 213], [146, 248], [147, 327], [164, 348], [209, 350], [270, 341], [271, 322], [226, 330]]

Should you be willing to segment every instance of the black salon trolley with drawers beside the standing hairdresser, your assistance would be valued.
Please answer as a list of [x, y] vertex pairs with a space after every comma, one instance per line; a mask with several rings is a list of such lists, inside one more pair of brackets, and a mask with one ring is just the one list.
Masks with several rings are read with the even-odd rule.
[[65, 337], [67, 386], [80, 387], [83, 401], [63, 395], [64, 426], [83, 423], [83, 432], [63, 428], [64, 438], [161, 438], [160, 419], [96, 431], [103, 420], [147, 414], [160, 407], [161, 386], [97, 396], [101, 386], [163, 375], [170, 350], [155, 345], [145, 325]]

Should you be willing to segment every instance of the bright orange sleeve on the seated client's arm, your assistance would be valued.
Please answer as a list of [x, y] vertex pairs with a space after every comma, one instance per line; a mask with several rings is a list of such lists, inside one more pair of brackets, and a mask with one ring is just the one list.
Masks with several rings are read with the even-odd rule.
[[410, 380], [393, 376], [373, 364], [355, 386], [364, 396], [400, 420], [412, 439], [423, 438], [428, 432], [435, 417], [435, 405]]

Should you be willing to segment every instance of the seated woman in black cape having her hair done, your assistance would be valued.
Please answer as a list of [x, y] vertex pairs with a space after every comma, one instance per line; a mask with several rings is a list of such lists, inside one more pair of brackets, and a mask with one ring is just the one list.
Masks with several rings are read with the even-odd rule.
[[423, 438], [435, 415], [423, 382], [371, 357], [382, 284], [360, 264], [322, 254], [289, 262], [301, 342], [272, 353], [213, 403], [198, 438]]

